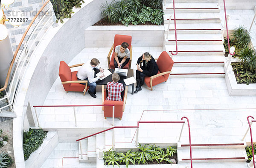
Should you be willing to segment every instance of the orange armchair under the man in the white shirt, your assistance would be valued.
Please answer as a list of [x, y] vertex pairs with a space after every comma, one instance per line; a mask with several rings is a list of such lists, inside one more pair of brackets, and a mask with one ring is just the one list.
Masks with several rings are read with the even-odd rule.
[[[77, 71], [71, 72], [71, 67], [78, 67], [81, 65], [83, 64], [68, 66], [66, 62], [60, 62], [59, 76], [66, 92], [84, 92], [85, 95], [85, 92], [89, 89], [89, 87], [87, 87], [88, 81], [78, 81], [76, 77]], [[80, 83], [85, 83], [86, 85]]]

